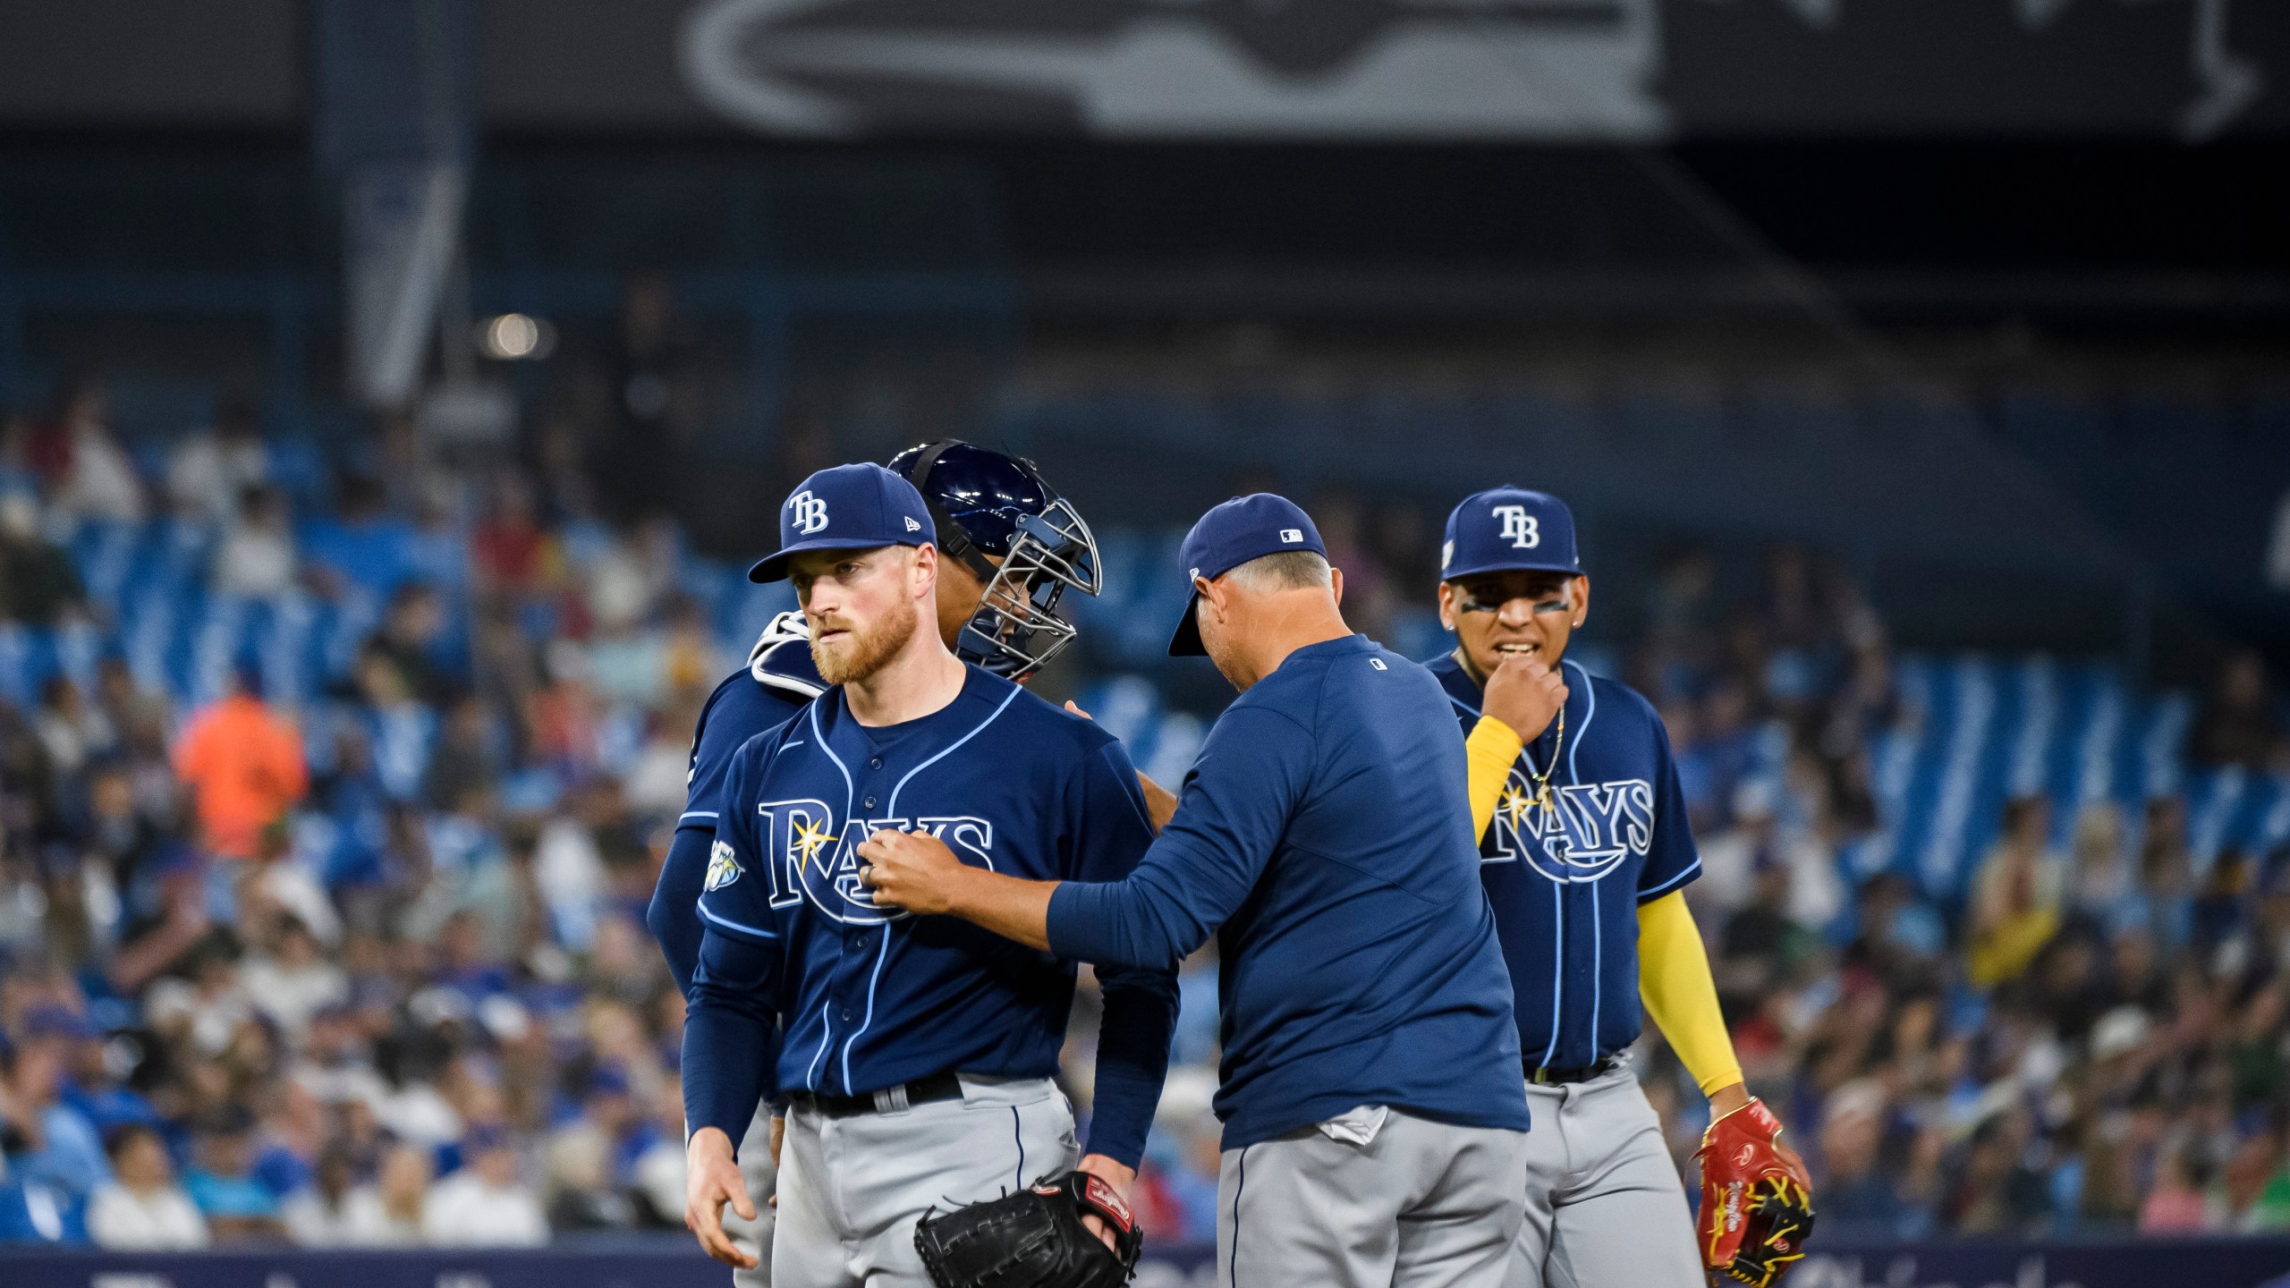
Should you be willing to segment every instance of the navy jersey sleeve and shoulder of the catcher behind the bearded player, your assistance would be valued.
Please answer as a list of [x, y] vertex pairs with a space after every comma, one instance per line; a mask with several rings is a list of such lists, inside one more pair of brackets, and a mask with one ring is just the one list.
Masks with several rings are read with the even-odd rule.
[[692, 990], [692, 967], [701, 958], [701, 917], [694, 905], [708, 878], [708, 848], [714, 843], [714, 793], [733, 754], [756, 733], [779, 729], [806, 701], [827, 692], [811, 662], [811, 630], [804, 614], [783, 612], [763, 628], [747, 665], [708, 694], [701, 720], [692, 729], [692, 765], [685, 772], [685, 811], [676, 820], [669, 857], [660, 864], [660, 885], [643, 924], [669, 958], [676, 988]]

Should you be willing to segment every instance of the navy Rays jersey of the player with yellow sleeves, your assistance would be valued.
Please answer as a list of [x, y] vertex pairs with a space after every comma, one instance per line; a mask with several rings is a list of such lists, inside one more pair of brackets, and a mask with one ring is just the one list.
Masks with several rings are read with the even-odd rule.
[[[1628, 685], [1566, 667], [1566, 740], [1557, 722], [1511, 765], [1479, 839], [1518, 995], [1530, 1066], [1585, 1068], [1637, 1040], [1637, 905], [1701, 871], [1669, 733]], [[1429, 662], [1468, 733], [1479, 685], [1454, 655]], [[1553, 754], [1557, 768], [1550, 768]], [[1550, 809], [1534, 784], [1550, 768]]]

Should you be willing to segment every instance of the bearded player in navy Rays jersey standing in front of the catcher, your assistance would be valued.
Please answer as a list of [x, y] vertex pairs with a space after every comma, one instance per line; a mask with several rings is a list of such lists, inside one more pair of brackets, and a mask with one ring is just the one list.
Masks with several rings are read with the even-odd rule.
[[[916, 830], [1026, 878], [1118, 880], [1152, 839], [1136, 770], [1095, 724], [955, 658], [937, 630], [937, 523], [879, 465], [838, 465], [781, 506], [781, 550], [829, 685], [749, 738], [717, 791], [685, 1020], [687, 1222], [710, 1256], [753, 1217], [733, 1139], [788, 1098], [772, 1281], [923, 1288], [916, 1219], [1067, 1171], [1051, 1075], [1074, 965], [877, 908], [854, 848]], [[1161, 1093], [1172, 969], [1104, 969], [1097, 1114], [1079, 1167], [1127, 1194]]]

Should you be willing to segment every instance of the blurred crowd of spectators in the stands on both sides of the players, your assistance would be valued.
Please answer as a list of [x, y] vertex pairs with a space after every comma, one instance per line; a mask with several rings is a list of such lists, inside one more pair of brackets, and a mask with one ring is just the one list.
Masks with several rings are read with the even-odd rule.
[[[630, 369], [637, 408], [657, 390]], [[621, 433], [456, 454], [385, 422], [298, 497], [250, 406], [144, 458], [94, 385], [7, 422], [0, 633], [110, 637], [71, 545], [103, 523], [197, 536], [213, 596], [373, 610], [307, 692], [250, 653], [199, 692], [105, 649], [0, 706], [0, 1240], [680, 1226], [682, 999], [641, 910], [744, 639], [676, 525], [600, 495], [623, 468], [657, 486], [641, 419]], [[1436, 649], [1427, 516], [1314, 511], [1356, 626]], [[1837, 566], [1784, 548], [1740, 575], [1679, 550], [1605, 660], [1669, 724], [1688, 896], [1823, 1231], [2290, 1228], [2290, 864], [2196, 862], [2173, 795], [2024, 798], [1960, 896], [1855, 878], [1871, 747], [1926, 713]], [[2219, 669], [2187, 749], [2283, 772], [2258, 658]], [[1214, 951], [1182, 988], [1138, 1208], [1207, 1240]], [[1083, 1109], [1092, 1011], [1085, 988]], [[1690, 1176], [1706, 1107], [1656, 1036], [1637, 1059]]]

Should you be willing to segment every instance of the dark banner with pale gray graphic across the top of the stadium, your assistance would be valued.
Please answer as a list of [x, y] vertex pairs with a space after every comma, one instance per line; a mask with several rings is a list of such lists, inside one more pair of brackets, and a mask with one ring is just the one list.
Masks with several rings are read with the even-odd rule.
[[[483, 121], [781, 138], [2290, 128], [2285, 0], [442, 0]], [[298, 0], [0, 5], [0, 128], [295, 128]]]

